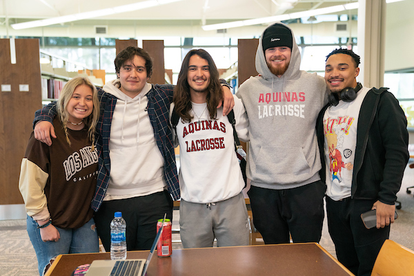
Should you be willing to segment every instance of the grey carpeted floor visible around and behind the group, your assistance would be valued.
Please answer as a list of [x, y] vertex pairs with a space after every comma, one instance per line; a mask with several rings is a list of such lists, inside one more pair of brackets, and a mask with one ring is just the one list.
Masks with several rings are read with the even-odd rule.
[[[398, 200], [402, 209], [397, 210], [398, 219], [391, 227], [390, 239], [414, 250], [414, 198], [406, 193], [406, 187], [414, 186], [414, 169], [407, 167]], [[414, 193], [414, 189], [413, 189]], [[178, 227], [179, 214], [174, 211], [172, 228]], [[179, 234], [172, 235], [173, 241], [179, 240]], [[326, 219], [320, 244], [335, 256], [335, 247], [329, 237]], [[173, 249], [182, 248], [174, 243]], [[0, 221], [0, 276], [37, 276], [37, 259], [26, 232], [26, 220]]]

